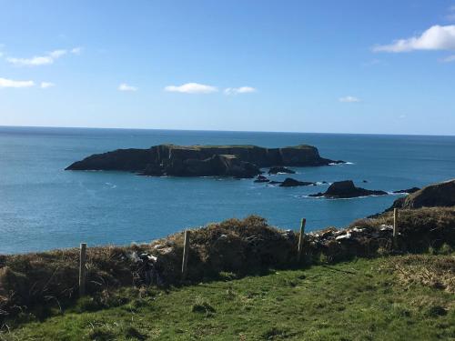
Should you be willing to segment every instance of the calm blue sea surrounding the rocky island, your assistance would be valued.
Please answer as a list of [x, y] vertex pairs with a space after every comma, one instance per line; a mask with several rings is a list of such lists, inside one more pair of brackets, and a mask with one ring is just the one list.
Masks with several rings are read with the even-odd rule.
[[94, 153], [163, 143], [315, 145], [320, 155], [349, 165], [294, 168], [298, 174], [292, 177], [314, 182], [352, 179], [358, 186], [386, 191], [455, 177], [455, 136], [0, 127], [0, 253], [80, 242], [147, 242], [251, 214], [283, 228], [297, 229], [302, 217], [308, 231], [341, 227], [384, 210], [398, 197], [329, 200], [308, 197], [327, 185], [282, 188], [251, 179], [64, 170]]

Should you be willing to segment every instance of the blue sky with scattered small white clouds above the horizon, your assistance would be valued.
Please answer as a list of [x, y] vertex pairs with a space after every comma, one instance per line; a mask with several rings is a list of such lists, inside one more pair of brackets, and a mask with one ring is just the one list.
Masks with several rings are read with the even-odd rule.
[[0, 0], [0, 125], [455, 135], [455, 0]]

